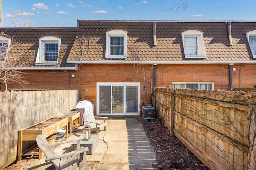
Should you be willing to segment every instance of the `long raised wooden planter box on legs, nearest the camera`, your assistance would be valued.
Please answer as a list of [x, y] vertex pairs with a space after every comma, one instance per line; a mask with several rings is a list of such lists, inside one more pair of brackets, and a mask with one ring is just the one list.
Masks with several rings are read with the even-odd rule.
[[[54, 117], [45, 121], [36, 123], [19, 131], [18, 134], [18, 160], [22, 158], [22, 141], [36, 141], [37, 135], [48, 137], [66, 126], [66, 138], [68, 138], [68, 118]], [[39, 149], [39, 159], [42, 159], [43, 153]]]

